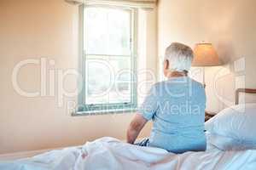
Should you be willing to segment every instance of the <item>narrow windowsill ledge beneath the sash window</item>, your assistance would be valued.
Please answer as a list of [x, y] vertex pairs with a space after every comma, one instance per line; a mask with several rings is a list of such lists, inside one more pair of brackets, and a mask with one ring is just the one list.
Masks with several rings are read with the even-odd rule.
[[128, 112], [135, 112], [137, 109], [113, 109], [106, 111], [77, 111], [72, 114], [72, 116], [100, 116], [100, 115], [108, 115], [108, 114], [122, 114]]

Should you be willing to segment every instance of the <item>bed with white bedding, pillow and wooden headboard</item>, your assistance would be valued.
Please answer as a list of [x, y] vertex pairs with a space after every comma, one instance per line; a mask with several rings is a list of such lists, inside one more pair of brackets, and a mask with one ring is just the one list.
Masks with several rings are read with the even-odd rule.
[[[237, 89], [240, 93], [256, 94], [254, 89]], [[243, 107], [244, 112], [241, 113]], [[44, 154], [16, 161], [0, 163], [0, 169], [8, 170], [255, 170], [256, 133], [247, 127], [255, 126], [256, 104], [236, 105], [227, 108], [219, 116], [206, 123], [207, 150], [175, 155], [166, 150], [126, 144], [118, 139], [102, 138], [83, 146], [63, 150], [51, 150]], [[245, 116], [246, 115], [246, 116]], [[245, 118], [241, 118], [245, 117]], [[229, 119], [229, 123], [223, 123]], [[241, 122], [242, 121], [242, 122]], [[245, 121], [247, 121], [245, 123]], [[239, 126], [234, 126], [234, 122]], [[213, 127], [212, 127], [213, 126]], [[234, 130], [235, 127], [235, 130]], [[215, 132], [214, 132], [215, 131]], [[234, 131], [234, 132], [233, 132]], [[235, 132], [236, 131], [236, 132]], [[232, 135], [231, 135], [232, 134]], [[229, 136], [231, 135], [231, 136]]]

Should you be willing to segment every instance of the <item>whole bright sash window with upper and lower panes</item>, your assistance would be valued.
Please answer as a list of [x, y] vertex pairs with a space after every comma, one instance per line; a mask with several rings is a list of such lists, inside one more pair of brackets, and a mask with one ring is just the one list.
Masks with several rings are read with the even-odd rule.
[[81, 10], [84, 88], [78, 113], [135, 109], [136, 9], [86, 5]]

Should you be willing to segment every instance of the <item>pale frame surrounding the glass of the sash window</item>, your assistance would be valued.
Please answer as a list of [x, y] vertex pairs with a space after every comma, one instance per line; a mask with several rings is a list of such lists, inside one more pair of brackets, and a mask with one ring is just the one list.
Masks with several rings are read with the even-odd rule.
[[[96, 105], [86, 105], [86, 94], [85, 94], [85, 83], [86, 83], [86, 54], [84, 51], [84, 10], [90, 7], [102, 7], [102, 8], [119, 8], [122, 10], [129, 10], [131, 14], [131, 102], [120, 102], [115, 104], [96, 104]], [[78, 98], [78, 108], [74, 116], [79, 115], [100, 115], [108, 113], [122, 113], [137, 111], [137, 8], [130, 8], [124, 6], [113, 6], [106, 4], [82, 4], [79, 6], [79, 71], [82, 73], [83, 84], [81, 92]], [[102, 54], [108, 56], [108, 54]], [[114, 55], [110, 55], [113, 56]]]

